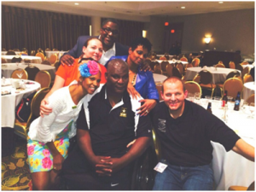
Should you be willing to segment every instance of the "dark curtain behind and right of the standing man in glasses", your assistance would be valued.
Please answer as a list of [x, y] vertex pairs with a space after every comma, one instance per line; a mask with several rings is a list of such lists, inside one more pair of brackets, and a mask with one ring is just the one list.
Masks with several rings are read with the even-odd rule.
[[[102, 22], [108, 18], [102, 18]], [[118, 42], [130, 46], [131, 41], [137, 37], [143, 37], [143, 22], [131, 20], [118, 20], [119, 36]]]

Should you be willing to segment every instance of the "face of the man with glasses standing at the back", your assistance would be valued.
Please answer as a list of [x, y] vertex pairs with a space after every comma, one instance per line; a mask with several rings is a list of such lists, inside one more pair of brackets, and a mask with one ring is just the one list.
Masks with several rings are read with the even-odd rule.
[[101, 40], [103, 46], [112, 47], [113, 43], [116, 41], [119, 33], [119, 26], [116, 23], [108, 21], [101, 28]]

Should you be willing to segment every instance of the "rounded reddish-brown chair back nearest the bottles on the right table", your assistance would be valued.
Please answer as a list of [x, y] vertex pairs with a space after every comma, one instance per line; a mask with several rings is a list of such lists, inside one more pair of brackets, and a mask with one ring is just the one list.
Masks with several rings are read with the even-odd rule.
[[236, 98], [237, 92], [242, 91], [243, 84], [240, 79], [231, 78], [224, 82], [223, 90], [228, 91], [228, 96], [232, 96], [233, 98]]

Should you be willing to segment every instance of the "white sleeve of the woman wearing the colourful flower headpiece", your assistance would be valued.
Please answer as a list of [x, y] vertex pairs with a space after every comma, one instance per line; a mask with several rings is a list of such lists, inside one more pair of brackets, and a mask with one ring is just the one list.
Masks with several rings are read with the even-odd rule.
[[64, 101], [60, 99], [57, 94], [49, 96], [49, 107], [52, 108], [52, 113], [45, 115], [44, 118], [40, 117], [38, 124], [38, 141], [48, 143], [55, 141], [55, 135], [50, 131], [50, 126], [55, 122], [56, 117], [61, 113], [64, 108]]

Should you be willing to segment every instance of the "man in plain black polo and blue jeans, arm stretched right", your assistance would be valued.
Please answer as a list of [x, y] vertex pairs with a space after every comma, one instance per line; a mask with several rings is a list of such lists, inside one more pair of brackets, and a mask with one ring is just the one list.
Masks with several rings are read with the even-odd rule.
[[211, 141], [255, 161], [255, 148], [212, 113], [185, 100], [187, 94], [180, 79], [166, 79], [161, 95], [164, 102], [152, 110], [161, 162], [167, 165], [164, 172], [157, 173], [154, 191], [212, 190]]

